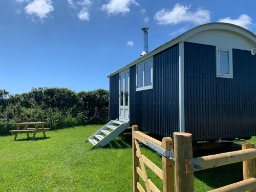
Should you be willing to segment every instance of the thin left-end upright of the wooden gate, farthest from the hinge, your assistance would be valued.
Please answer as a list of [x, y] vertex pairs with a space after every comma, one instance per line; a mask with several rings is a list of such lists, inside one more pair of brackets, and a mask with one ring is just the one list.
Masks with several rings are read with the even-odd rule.
[[133, 125], [133, 191], [139, 192], [137, 188], [137, 182], [140, 182], [139, 174], [137, 173], [137, 167], [139, 167], [139, 158], [136, 155], [136, 146], [134, 142], [134, 131], [139, 131], [138, 125]]

